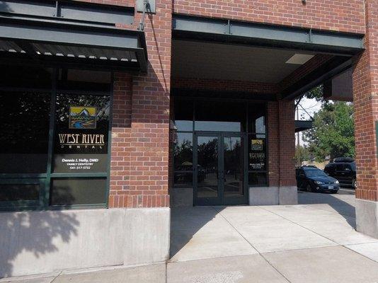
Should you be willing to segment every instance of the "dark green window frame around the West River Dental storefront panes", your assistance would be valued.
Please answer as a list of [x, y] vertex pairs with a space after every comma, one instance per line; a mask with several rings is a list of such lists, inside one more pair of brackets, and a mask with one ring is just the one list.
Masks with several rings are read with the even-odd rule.
[[[0, 173], [0, 184], [39, 184], [40, 196], [38, 201], [14, 201], [0, 202], [0, 211], [30, 211], [30, 210], [59, 210], [59, 209], [101, 209], [108, 208], [108, 196], [110, 187], [110, 149], [111, 149], [111, 131], [113, 120], [113, 72], [111, 74], [110, 91], [86, 91], [83, 89], [61, 90], [57, 88], [57, 72], [54, 68], [52, 75], [52, 88], [12, 88], [0, 87], [1, 91], [42, 91], [50, 93], [50, 129], [48, 135], [47, 151], [47, 168], [46, 173]], [[58, 93], [69, 93], [74, 95], [91, 95], [91, 96], [109, 96], [110, 97], [110, 115], [108, 126], [108, 160], [107, 172], [103, 173], [52, 173], [52, 158], [54, 154], [54, 133], [55, 133], [55, 107]], [[104, 202], [99, 204], [67, 204], [67, 205], [49, 205], [50, 203], [50, 185], [52, 178], [106, 178]]]

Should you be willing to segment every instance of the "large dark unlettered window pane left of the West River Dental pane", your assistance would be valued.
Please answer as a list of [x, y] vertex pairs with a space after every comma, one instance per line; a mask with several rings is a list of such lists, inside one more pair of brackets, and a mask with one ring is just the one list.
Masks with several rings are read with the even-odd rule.
[[50, 93], [0, 91], [0, 173], [46, 173]]

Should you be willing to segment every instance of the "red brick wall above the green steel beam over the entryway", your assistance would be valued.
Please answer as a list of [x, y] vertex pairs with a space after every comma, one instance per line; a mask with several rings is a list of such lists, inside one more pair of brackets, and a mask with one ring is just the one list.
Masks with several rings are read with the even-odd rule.
[[174, 13], [365, 33], [363, 0], [175, 0]]

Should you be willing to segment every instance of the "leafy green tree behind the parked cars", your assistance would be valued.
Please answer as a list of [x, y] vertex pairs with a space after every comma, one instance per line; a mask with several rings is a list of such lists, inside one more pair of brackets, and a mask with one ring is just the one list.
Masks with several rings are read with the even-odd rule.
[[313, 128], [304, 132], [304, 141], [316, 161], [331, 158], [355, 156], [353, 105], [345, 102], [323, 103], [314, 115]]

